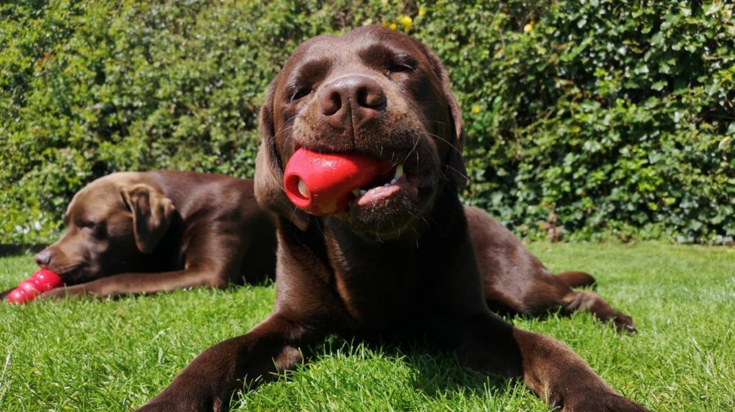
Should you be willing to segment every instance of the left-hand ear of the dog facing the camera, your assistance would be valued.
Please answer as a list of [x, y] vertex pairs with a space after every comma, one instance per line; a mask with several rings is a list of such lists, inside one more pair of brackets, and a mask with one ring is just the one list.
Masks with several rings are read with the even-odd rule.
[[308, 216], [290, 202], [283, 187], [284, 167], [276, 150], [276, 130], [273, 122], [273, 95], [277, 81], [278, 76], [268, 85], [258, 116], [262, 141], [255, 161], [255, 198], [263, 209], [276, 212], [289, 219], [299, 229], [306, 230]]

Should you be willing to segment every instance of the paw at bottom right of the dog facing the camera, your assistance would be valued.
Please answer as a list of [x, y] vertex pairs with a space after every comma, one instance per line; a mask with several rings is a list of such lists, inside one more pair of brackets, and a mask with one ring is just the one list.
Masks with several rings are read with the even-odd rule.
[[637, 402], [612, 392], [578, 391], [565, 397], [551, 396], [549, 406], [555, 412], [647, 412]]

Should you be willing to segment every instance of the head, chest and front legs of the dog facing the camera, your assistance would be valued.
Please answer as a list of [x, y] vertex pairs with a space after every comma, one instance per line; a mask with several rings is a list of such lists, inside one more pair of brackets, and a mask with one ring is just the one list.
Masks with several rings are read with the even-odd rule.
[[[426, 45], [379, 26], [308, 40], [268, 87], [260, 127], [257, 199], [279, 216], [273, 313], [209, 347], [141, 411], [226, 409], [243, 379], [293, 368], [302, 347], [329, 334], [428, 341], [470, 367], [523, 378], [564, 411], [645, 411], [562, 342], [488, 309], [457, 196], [462, 114]], [[307, 216], [283, 191], [283, 166], [298, 147], [366, 153], [403, 164], [404, 175], [396, 190], [356, 199], [340, 216]]]

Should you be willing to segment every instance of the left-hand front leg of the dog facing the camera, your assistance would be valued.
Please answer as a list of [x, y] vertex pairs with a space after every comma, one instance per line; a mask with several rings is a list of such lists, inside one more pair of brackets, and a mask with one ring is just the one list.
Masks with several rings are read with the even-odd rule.
[[204, 350], [138, 411], [226, 411], [243, 382], [268, 380], [302, 361], [299, 347], [313, 342], [312, 329], [271, 314], [253, 330]]

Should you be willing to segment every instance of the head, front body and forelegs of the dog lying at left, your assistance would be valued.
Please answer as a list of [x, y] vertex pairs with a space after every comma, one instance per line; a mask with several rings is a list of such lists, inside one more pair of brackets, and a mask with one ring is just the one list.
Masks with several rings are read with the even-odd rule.
[[252, 180], [193, 172], [122, 172], [77, 193], [62, 238], [35, 256], [65, 295], [118, 296], [259, 282], [276, 268], [273, 218]]

